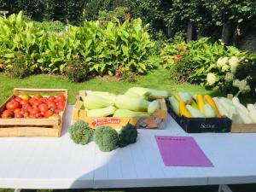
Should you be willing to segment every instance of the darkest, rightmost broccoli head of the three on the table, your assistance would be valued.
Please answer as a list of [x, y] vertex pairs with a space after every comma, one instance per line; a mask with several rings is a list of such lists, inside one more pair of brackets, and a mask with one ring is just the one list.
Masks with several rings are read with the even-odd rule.
[[136, 143], [137, 140], [137, 128], [134, 125], [128, 123], [123, 126], [119, 133], [119, 147], [124, 148], [125, 146]]

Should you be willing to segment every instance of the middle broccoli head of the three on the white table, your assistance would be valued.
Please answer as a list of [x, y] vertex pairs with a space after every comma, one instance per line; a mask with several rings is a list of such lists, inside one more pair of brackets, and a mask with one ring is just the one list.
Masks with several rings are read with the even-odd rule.
[[110, 126], [101, 126], [96, 128], [94, 140], [101, 151], [108, 152], [117, 147], [119, 143], [119, 136], [117, 131]]

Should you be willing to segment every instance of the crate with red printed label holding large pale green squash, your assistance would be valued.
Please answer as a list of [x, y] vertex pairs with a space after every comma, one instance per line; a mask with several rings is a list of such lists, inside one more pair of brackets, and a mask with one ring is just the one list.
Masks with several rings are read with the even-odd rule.
[[82, 119], [89, 123], [90, 127], [95, 129], [102, 125], [108, 125], [113, 128], [121, 128], [128, 122], [132, 125], [136, 125], [137, 128], [148, 128], [148, 129], [165, 129], [167, 119], [167, 107], [165, 99], [160, 99], [160, 109], [156, 110], [152, 116], [149, 117], [103, 117], [103, 118], [92, 118], [86, 115], [86, 111], [83, 108], [84, 97], [86, 96], [86, 90], [80, 90], [78, 100], [75, 103], [73, 109], [73, 123], [78, 119]]

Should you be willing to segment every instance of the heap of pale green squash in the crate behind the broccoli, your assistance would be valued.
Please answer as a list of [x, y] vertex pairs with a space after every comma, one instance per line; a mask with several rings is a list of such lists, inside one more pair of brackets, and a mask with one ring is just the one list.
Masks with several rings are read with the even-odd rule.
[[88, 117], [137, 117], [152, 115], [160, 109], [156, 98], [168, 96], [166, 90], [132, 87], [124, 95], [86, 90], [84, 109]]

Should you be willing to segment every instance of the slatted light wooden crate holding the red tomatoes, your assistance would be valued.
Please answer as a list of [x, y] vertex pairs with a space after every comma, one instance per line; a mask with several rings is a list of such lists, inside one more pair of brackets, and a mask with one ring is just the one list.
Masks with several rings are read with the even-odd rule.
[[61, 119], [2, 119], [0, 118], [0, 137], [61, 137], [61, 129], [65, 113], [67, 111], [67, 89], [14, 89], [14, 95], [0, 107], [0, 114], [5, 110], [5, 105], [11, 99], [18, 96], [20, 92], [47, 94], [64, 94], [66, 103], [64, 111], [60, 113]]

